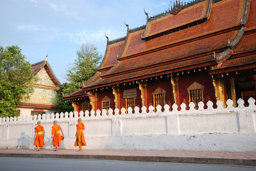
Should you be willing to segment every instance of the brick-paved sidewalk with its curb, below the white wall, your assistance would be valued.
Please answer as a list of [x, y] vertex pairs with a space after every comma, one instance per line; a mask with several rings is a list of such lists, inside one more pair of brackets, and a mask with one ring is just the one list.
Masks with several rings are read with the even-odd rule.
[[256, 166], [256, 152], [191, 152], [158, 150], [77, 150], [0, 149], [0, 157], [45, 157], [69, 159], [106, 159], [143, 162], [232, 164]]

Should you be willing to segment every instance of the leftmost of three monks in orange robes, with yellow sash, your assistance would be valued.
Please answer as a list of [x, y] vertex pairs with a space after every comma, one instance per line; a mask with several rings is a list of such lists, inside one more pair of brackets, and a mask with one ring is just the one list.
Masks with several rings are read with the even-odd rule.
[[37, 124], [38, 126], [35, 127], [34, 145], [37, 147], [36, 151], [41, 151], [41, 147], [45, 145], [45, 142], [43, 141], [43, 136], [45, 136], [45, 128], [40, 125], [40, 121], [38, 121]]

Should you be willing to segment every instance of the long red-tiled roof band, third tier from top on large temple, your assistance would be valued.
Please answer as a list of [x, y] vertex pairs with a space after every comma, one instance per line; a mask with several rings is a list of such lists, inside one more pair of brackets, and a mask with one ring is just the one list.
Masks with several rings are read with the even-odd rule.
[[166, 61], [172, 61], [175, 59], [228, 47], [228, 39], [232, 41], [238, 33], [239, 30], [235, 30], [161, 51], [152, 52], [150, 54], [122, 60], [119, 61], [114, 68], [109, 70], [106, 75], [120, 73], [122, 71], [132, 70], [135, 68], [142, 68], [156, 63], [163, 63]]

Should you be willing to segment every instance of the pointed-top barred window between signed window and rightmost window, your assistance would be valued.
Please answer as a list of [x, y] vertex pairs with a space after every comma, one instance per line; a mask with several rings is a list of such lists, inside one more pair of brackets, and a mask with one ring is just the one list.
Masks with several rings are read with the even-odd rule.
[[161, 111], [164, 111], [164, 105], [165, 105], [165, 94], [166, 91], [164, 89], [161, 89], [158, 87], [154, 92], [153, 92], [153, 98], [154, 98], [154, 112], [156, 112], [156, 106], [161, 105], [162, 109]]

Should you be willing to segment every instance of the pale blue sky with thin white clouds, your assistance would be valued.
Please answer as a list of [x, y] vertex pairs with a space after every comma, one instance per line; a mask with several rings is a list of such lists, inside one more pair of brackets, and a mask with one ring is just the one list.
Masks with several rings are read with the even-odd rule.
[[169, 0], [0, 0], [0, 45], [18, 45], [31, 64], [47, 60], [61, 83], [83, 42], [104, 56], [107, 39], [168, 10]]

